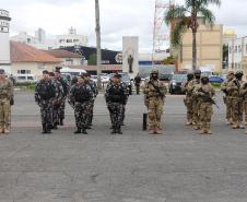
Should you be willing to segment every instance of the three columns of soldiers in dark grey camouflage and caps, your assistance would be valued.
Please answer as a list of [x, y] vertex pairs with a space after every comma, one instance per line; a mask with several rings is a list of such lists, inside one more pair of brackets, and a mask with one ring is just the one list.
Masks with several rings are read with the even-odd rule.
[[[64, 103], [74, 109], [75, 134], [87, 134], [93, 120], [94, 102], [98, 94], [96, 83], [90, 79], [89, 73], [77, 76], [71, 86], [61, 78], [60, 71], [43, 71], [43, 79], [35, 88], [35, 102], [40, 107], [43, 133], [51, 133], [58, 124], [63, 124]], [[115, 74], [107, 84], [105, 99], [110, 115], [111, 134], [121, 134], [125, 109], [128, 102], [129, 91], [121, 82], [121, 75]]]

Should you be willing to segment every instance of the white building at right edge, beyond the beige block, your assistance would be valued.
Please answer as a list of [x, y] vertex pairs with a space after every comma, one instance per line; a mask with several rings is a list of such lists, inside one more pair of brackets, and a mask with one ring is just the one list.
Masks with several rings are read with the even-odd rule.
[[243, 70], [247, 74], [247, 36], [228, 43], [228, 64], [231, 70]]

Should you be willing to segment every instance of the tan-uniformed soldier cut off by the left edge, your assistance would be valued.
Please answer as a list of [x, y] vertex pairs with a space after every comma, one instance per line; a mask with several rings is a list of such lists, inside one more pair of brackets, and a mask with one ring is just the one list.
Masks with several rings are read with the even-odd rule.
[[11, 105], [13, 104], [13, 83], [0, 69], [0, 133], [9, 134], [11, 126]]

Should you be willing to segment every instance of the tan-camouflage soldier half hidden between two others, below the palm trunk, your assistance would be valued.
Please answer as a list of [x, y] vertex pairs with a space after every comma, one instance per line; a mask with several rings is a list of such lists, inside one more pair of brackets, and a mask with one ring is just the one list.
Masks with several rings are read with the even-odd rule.
[[198, 99], [197, 94], [195, 94], [195, 88], [197, 86], [200, 86], [201, 84], [201, 71], [200, 70], [195, 70], [193, 72], [193, 80], [188, 83], [187, 87], [187, 93], [191, 95], [192, 99], [192, 124], [195, 126], [196, 130], [200, 129], [200, 120], [199, 120], [199, 107], [200, 107], [200, 102]]

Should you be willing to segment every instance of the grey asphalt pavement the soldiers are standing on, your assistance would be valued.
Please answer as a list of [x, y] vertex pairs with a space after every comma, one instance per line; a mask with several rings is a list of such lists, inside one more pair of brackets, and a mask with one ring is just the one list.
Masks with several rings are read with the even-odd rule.
[[212, 135], [186, 127], [184, 95], [168, 95], [164, 134], [142, 131], [142, 95], [130, 96], [124, 134], [111, 135], [101, 94], [93, 129], [40, 134], [33, 92], [15, 92], [12, 131], [0, 135], [0, 202], [247, 202], [247, 135], [225, 126], [217, 93]]

